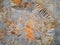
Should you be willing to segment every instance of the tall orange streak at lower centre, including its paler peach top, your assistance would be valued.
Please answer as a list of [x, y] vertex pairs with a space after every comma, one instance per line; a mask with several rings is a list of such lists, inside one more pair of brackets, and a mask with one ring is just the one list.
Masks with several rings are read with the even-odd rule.
[[31, 22], [28, 22], [26, 25], [26, 32], [25, 33], [26, 33], [26, 38], [28, 40], [34, 40], [34, 34], [33, 34], [34, 31], [31, 26], [32, 26]]

